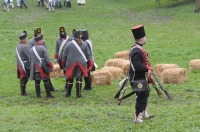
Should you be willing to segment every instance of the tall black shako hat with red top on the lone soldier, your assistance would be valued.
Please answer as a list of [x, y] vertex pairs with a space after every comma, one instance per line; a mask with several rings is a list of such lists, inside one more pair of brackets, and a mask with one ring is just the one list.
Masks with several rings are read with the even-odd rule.
[[134, 26], [131, 28], [131, 31], [135, 39], [140, 39], [146, 36], [143, 24]]

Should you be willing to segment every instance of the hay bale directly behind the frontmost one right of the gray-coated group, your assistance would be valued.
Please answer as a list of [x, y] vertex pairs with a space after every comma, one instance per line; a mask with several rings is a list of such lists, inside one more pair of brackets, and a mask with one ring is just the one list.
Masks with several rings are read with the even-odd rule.
[[113, 67], [113, 66], [105, 66], [102, 68], [102, 70], [109, 71], [112, 75], [112, 80], [114, 79], [120, 79], [123, 76], [123, 70], [118, 67]]

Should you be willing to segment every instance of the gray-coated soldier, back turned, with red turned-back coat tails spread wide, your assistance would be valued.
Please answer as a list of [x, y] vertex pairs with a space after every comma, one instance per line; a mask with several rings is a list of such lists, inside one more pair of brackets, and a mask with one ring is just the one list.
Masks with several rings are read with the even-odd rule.
[[67, 86], [65, 97], [71, 96], [74, 78], [76, 78], [76, 97], [82, 97], [82, 77], [88, 76], [87, 62], [89, 62], [89, 69], [91, 69], [93, 60], [88, 46], [81, 40], [81, 31], [75, 31], [74, 40], [67, 43], [62, 58]]

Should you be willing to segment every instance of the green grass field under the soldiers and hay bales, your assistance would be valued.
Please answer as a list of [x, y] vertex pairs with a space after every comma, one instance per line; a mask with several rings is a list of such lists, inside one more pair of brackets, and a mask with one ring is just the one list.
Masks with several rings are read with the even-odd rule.
[[[189, 70], [191, 59], [199, 59], [200, 14], [193, 13], [194, 2], [174, 4], [162, 0], [87, 0], [78, 6], [72, 0], [72, 8], [47, 9], [36, 7], [36, 0], [27, 0], [28, 9], [15, 7], [10, 12], [0, 6], [0, 131], [150, 131], [150, 132], [199, 132], [200, 131], [200, 72]], [[15, 1], [14, 1], [15, 2]], [[32, 3], [32, 5], [31, 5]], [[152, 120], [134, 124], [135, 95], [127, 98], [120, 106], [114, 100], [120, 80], [111, 86], [95, 86], [92, 91], [82, 92], [84, 98], [64, 98], [62, 92], [65, 79], [52, 79], [58, 92], [54, 99], [46, 99], [42, 86], [42, 98], [37, 99], [34, 82], [29, 81], [27, 92], [20, 95], [16, 75], [15, 47], [18, 36], [42, 28], [44, 38], [53, 61], [58, 29], [64, 26], [71, 35], [73, 28], [88, 29], [94, 42], [95, 59], [102, 68], [114, 53], [128, 50], [134, 43], [131, 28], [144, 24], [147, 34], [145, 49], [149, 52], [152, 66], [168, 63], [186, 68], [188, 80], [184, 84], [164, 84], [174, 97], [158, 97], [151, 88], [148, 101]], [[127, 93], [131, 91], [129, 87]]]

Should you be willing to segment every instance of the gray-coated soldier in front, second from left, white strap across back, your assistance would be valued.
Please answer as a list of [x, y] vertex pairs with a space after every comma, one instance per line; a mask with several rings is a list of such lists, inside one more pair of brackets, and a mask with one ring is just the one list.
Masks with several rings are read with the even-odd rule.
[[35, 89], [37, 97], [41, 97], [40, 95], [40, 82], [43, 80], [44, 87], [46, 90], [47, 98], [54, 98], [50, 92], [50, 73], [45, 71], [46, 68], [53, 69], [53, 64], [50, 61], [50, 57], [47, 49], [43, 45], [42, 35], [38, 35], [35, 37], [36, 45], [30, 50], [30, 79], [35, 80]]

